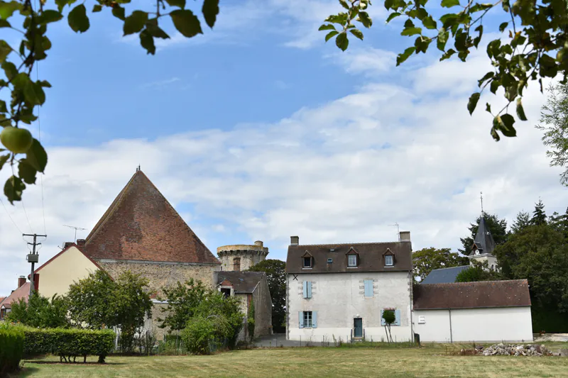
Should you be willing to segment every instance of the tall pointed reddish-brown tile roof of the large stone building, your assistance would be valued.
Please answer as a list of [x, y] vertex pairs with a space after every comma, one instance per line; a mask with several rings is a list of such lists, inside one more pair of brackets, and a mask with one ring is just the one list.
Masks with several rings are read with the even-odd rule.
[[84, 252], [94, 259], [220, 264], [140, 170], [89, 233]]

